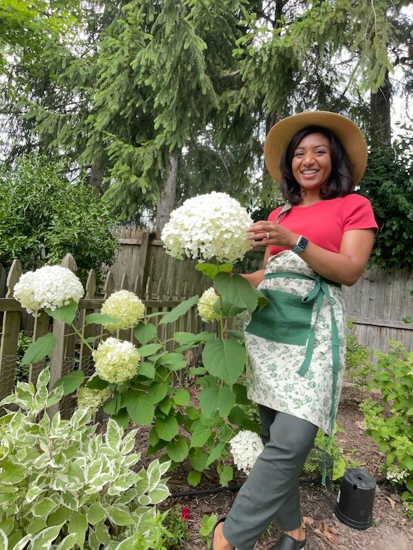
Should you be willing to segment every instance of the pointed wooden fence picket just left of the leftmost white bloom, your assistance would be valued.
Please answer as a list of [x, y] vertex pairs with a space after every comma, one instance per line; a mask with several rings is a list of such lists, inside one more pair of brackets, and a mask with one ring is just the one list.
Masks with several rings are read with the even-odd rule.
[[[14, 260], [6, 281], [6, 298], [13, 297], [14, 285], [23, 270], [20, 260]], [[17, 347], [19, 345], [21, 311], [5, 311], [0, 346], [0, 399], [12, 392], [16, 375]]]

